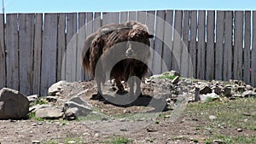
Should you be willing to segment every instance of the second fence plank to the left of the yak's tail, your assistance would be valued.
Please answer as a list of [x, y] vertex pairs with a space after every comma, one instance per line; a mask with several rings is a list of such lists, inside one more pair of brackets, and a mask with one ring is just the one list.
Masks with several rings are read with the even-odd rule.
[[67, 14], [67, 57], [66, 80], [73, 82], [76, 79], [77, 61], [77, 14]]

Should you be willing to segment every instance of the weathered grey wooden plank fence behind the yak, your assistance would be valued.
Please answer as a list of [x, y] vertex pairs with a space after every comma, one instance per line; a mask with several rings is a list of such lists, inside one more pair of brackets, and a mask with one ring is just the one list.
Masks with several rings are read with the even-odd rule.
[[184, 77], [256, 86], [256, 11], [158, 10], [0, 14], [0, 89], [46, 95], [61, 79], [82, 80], [84, 37], [127, 20], [146, 24], [156, 36], [150, 41], [153, 73], [174, 69]]

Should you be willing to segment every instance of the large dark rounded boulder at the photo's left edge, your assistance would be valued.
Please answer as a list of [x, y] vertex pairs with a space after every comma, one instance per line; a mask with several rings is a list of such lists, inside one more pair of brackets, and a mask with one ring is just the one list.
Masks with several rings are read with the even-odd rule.
[[29, 112], [29, 101], [15, 89], [0, 90], [0, 119], [26, 118]]

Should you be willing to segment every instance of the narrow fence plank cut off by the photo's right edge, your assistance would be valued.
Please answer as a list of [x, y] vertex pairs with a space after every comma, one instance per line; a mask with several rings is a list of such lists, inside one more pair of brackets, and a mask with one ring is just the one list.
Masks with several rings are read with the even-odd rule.
[[256, 87], [256, 11], [253, 11], [252, 85]]

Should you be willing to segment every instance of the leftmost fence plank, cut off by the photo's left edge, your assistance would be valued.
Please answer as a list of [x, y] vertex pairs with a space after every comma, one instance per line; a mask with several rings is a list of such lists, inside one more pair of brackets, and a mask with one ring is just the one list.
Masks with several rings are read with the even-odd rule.
[[4, 47], [4, 15], [0, 14], [0, 89], [5, 87], [5, 47]]

